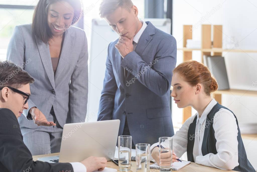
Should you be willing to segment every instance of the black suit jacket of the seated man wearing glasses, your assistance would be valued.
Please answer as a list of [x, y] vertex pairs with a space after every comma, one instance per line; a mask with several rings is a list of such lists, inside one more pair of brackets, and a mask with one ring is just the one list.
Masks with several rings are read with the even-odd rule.
[[74, 172], [70, 163], [33, 161], [23, 142], [20, 125], [10, 109], [0, 108], [1, 172]]

